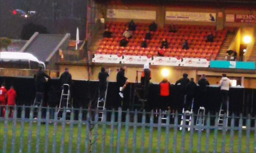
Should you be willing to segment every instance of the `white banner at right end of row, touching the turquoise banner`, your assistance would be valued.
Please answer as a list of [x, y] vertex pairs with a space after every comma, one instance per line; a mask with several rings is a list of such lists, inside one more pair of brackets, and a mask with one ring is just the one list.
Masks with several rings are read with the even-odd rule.
[[183, 58], [180, 66], [209, 67], [210, 61], [204, 58]]

